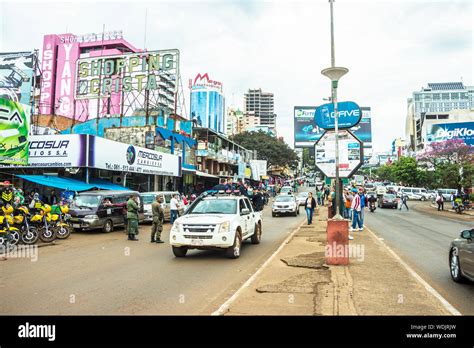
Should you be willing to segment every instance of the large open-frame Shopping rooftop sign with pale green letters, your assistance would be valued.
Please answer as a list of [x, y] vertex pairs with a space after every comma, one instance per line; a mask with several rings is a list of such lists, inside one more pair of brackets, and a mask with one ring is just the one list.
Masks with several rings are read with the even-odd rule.
[[159, 50], [82, 58], [76, 66], [76, 99], [94, 99], [124, 92], [158, 90], [161, 75], [174, 81], [177, 93], [179, 51]]

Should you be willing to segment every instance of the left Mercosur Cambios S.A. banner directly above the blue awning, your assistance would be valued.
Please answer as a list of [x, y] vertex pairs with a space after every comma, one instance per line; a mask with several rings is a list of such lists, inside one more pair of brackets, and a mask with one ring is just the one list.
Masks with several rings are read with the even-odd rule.
[[85, 167], [86, 149], [84, 134], [30, 135], [28, 164], [22, 167]]

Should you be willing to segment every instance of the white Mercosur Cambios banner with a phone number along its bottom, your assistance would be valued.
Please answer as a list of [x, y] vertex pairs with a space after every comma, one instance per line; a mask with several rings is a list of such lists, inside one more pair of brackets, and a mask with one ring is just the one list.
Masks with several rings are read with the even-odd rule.
[[181, 176], [179, 156], [94, 136], [90, 136], [89, 141], [89, 166], [120, 172]]

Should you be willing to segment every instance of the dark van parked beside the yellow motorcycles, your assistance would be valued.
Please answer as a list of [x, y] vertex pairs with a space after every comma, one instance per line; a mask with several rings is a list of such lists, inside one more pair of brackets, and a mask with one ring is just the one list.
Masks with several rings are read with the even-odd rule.
[[[125, 225], [128, 198], [136, 191], [85, 191], [74, 197], [69, 209], [74, 229], [90, 231], [102, 229], [112, 232], [117, 226]], [[143, 200], [140, 199], [139, 222], [144, 220]]]

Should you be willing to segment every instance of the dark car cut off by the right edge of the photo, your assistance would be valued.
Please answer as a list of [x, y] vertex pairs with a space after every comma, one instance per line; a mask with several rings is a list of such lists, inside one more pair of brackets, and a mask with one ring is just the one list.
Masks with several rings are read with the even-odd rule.
[[461, 231], [449, 247], [449, 268], [455, 282], [474, 282], [474, 228]]

